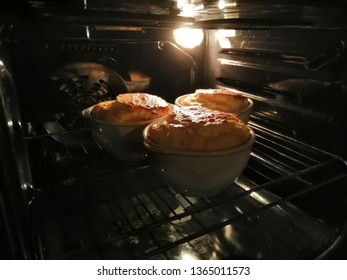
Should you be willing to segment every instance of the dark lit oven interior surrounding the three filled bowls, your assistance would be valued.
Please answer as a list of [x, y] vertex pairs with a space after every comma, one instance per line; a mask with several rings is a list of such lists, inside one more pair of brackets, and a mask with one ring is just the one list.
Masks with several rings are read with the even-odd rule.
[[[205, 1], [193, 19], [159, 14], [165, 1], [154, 13], [140, 6], [152, 11], [146, 16], [134, 12], [139, 1], [129, 2], [131, 13], [94, 2], [65, 10], [36, 1], [30, 16], [13, 12], [2, 22], [2, 65], [11, 73], [1, 76], [2, 169], [18, 177], [4, 179], [0, 196], [5, 257], [345, 258], [343, 13], [228, 6], [221, 20]], [[334, 21], [322, 16], [327, 8]], [[203, 42], [180, 47], [172, 31], [191, 26], [204, 30]], [[94, 141], [81, 110], [129, 90], [130, 71], [148, 75], [146, 92], [171, 103], [210, 87], [254, 101], [256, 142], [230, 188], [181, 195], [148, 160], [118, 160]], [[14, 212], [22, 225], [10, 221]]]

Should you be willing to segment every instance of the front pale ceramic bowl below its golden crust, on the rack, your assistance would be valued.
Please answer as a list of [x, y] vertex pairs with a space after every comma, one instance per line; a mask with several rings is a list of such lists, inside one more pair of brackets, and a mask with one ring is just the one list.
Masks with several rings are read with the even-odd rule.
[[163, 147], [151, 141], [143, 131], [144, 143], [153, 169], [178, 192], [208, 197], [230, 186], [241, 175], [251, 155], [255, 134], [240, 146], [219, 151], [183, 151]]

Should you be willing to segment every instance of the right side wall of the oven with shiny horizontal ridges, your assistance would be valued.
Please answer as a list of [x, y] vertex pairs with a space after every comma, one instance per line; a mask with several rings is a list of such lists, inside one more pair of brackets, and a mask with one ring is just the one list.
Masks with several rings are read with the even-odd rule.
[[254, 121], [346, 158], [346, 32], [230, 31], [209, 31], [206, 86], [245, 91]]

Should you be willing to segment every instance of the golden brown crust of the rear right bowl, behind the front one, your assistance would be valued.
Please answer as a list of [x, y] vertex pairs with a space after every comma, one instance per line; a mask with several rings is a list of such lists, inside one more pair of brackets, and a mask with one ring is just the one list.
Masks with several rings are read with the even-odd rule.
[[238, 113], [249, 105], [240, 92], [226, 89], [197, 89], [181, 101], [183, 106], [204, 106], [212, 110]]

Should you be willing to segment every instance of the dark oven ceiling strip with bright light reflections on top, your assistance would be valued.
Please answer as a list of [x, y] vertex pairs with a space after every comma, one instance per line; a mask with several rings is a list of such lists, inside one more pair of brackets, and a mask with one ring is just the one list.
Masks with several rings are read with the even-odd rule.
[[110, 18], [195, 22], [202, 28], [346, 28], [344, 1], [234, 0], [40, 0], [35, 10]]

